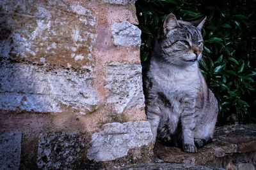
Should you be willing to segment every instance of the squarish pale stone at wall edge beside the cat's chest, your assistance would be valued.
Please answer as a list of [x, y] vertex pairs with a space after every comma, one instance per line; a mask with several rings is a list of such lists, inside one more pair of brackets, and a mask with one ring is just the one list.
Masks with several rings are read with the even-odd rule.
[[116, 111], [145, 106], [142, 89], [141, 65], [111, 63], [106, 69], [107, 103], [113, 103]]

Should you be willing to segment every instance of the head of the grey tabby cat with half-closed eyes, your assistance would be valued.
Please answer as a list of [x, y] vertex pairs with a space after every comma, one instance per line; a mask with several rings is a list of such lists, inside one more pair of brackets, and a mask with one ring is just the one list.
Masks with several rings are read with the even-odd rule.
[[164, 60], [171, 64], [186, 66], [202, 57], [202, 26], [206, 17], [194, 22], [177, 20], [170, 13], [164, 20], [158, 43]]

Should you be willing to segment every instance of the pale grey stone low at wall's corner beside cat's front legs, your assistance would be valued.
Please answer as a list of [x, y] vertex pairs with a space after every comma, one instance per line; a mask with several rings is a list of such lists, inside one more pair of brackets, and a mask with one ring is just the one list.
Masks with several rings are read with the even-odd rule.
[[93, 134], [87, 157], [96, 162], [115, 160], [150, 143], [152, 132], [147, 121], [105, 124], [102, 131]]

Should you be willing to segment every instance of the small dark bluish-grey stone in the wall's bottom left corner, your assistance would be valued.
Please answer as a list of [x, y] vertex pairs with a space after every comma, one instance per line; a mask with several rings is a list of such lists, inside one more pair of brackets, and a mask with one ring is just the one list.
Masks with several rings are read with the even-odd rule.
[[0, 132], [0, 169], [19, 169], [21, 132]]

